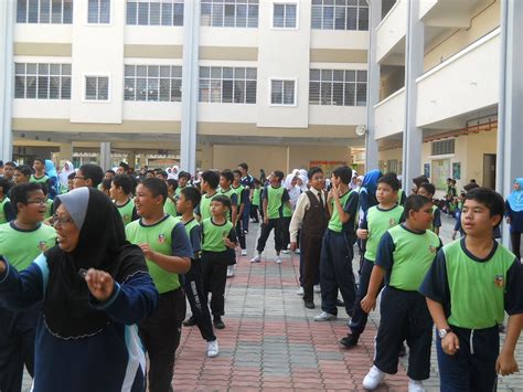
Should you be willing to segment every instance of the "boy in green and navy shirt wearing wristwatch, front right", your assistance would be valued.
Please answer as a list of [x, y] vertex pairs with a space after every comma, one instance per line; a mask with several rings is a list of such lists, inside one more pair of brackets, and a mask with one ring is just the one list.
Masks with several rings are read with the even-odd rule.
[[[503, 198], [485, 188], [465, 197], [467, 234], [438, 252], [419, 292], [437, 328], [441, 391], [494, 391], [498, 374], [517, 371], [514, 349], [523, 327], [523, 275], [514, 254], [492, 239]], [[509, 314], [503, 348], [498, 325]]]

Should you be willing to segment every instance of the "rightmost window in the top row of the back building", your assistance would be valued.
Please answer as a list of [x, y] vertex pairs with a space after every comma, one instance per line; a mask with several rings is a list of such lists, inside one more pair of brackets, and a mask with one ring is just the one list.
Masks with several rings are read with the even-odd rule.
[[369, 30], [366, 0], [312, 0], [311, 28]]

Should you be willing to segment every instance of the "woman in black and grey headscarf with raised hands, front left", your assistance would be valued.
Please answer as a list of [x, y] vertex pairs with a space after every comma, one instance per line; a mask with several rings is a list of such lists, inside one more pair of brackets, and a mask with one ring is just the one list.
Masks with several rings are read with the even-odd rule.
[[126, 241], [116, 206], [79, 188], [56, 198], [58, 245], [18, 273], [0, 259], [0, 306], [42, 303], [34, 391], [145, 391], [137, 322], [158, 306], [143, 252]]

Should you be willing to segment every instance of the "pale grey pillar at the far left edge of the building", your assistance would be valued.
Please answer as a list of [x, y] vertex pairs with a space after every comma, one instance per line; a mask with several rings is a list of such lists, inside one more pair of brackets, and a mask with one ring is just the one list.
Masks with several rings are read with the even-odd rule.
[[12, 159], [13, 30], [15, 1], [0, 1], [0, 160]]

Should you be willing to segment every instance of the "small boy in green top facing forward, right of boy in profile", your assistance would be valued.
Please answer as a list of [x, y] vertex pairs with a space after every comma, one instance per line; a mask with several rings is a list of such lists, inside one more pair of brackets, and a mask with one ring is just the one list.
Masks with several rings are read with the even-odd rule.
[[225, 315], [225, 284], [232, 257], [228, 250], [236, 247], [234, 225], [226, 218], [230, 210], [231, 199], [217, 194], [211, 201], [211, 216], [201, 223], [203, 286], [205, 296], [211, 293], [211, 311], [216, 329], [225, 328], [222, 316]]

